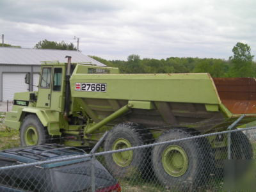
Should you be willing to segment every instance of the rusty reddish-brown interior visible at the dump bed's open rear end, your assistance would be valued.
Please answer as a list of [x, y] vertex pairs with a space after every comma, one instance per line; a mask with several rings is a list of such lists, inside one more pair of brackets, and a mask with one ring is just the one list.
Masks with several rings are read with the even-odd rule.
[[256, 79], [213, 78], [221, 102], [233, 114], [256, 114]]

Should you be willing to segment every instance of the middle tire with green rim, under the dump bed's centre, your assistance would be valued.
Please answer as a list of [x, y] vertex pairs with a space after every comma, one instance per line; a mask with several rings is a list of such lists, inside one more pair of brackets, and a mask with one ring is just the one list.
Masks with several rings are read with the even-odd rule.
[[[150, 142], [152, 142], [152, 134], [145, 127], [135, 123], [122, 123], [109, 132], [104, 142], [104, 151], [135, 147]], [[149, 152], [148, 148], [139, 148], [107, 154], [106, 166], [109, 172], [117, 177], [130, 177], [138, 172], [143, 173], [150, 165]]]

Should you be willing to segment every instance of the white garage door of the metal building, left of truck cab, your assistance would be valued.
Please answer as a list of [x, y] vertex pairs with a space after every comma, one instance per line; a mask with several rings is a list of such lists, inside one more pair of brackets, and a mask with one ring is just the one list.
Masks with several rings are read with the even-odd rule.
[[13, 100], [16, 92], [28, 92], [28, 84], [24, 82], [26, 74], [3, 74], [3, 101]]

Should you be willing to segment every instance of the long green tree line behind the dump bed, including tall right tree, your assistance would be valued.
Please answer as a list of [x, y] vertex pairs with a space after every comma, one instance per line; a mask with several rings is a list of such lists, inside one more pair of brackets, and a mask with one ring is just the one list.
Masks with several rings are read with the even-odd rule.
[[109, 67], [118, 67], [121, 73], [209, 73], [212, 77], [256, 77], [256, 63], [250, 54], [250, 47], [237, 43], [232, 49], [234, 56], [229, 61], [213, 58], [177, 58], [165, 60], [141, 59], [138, 54], [131, 54], [127, 61], [108, 61], [91, 56]]

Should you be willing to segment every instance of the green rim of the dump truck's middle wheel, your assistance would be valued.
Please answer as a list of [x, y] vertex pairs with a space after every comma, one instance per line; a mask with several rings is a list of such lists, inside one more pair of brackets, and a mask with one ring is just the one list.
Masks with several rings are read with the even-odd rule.
[[[122, 148], [129, 148], [132, 147], [131, 143], [125, 139], [118, 139], [113, 143], [112, 150], [122, 149]], [[132, 150], [118, 152], [112, 154], [113, 160], [115, 161], [118, 166], [128, 166], [132, 162], [133, 152]]]

